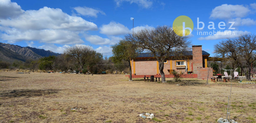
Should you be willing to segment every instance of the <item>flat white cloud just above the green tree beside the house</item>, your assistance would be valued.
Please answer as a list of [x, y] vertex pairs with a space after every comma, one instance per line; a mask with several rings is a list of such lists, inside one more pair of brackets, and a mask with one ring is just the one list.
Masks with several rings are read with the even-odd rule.
[[115, 36], [110, 36], [109, 38], [102, 38], [98, 35], [90, 35], [85, 37], [87, 41], [89, 41], [94, 45], [113, 45], [122, 39], [120, 37], [115, 37]]

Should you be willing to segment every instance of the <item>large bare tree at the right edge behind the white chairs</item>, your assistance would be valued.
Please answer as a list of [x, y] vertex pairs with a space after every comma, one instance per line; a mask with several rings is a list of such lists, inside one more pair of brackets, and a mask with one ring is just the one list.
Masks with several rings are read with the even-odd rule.
[[215, 53], [222, 57], [234, 59], [246, 78], [251, 80], [251, 64], [256, 60], [256, 35], [240, 35], [223, 40], [215, 45]]

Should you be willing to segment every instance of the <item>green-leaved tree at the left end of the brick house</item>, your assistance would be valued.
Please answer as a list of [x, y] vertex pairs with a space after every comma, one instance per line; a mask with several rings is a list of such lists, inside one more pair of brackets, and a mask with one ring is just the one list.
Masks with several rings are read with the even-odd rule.
[[120, 40], [117, 44], [112, 45], [112, 62], [115, 64], [124, 64], [126, 67], [129, 68], [130, 78], [132, 80], [132, 67], [130, 60], [137, 57], [137, 50], [136, 45], [132, 44], [132, 42], [126, 40]]

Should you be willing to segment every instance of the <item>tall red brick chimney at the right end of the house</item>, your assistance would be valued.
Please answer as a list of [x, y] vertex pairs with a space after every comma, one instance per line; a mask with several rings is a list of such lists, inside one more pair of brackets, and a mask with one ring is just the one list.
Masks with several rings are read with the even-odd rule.
[[197, 74], [197, 67], [203, 67], [202, 45], [192, 46], [193, 73]]

